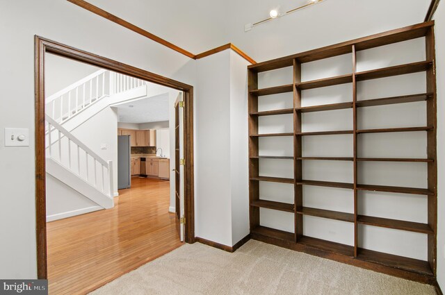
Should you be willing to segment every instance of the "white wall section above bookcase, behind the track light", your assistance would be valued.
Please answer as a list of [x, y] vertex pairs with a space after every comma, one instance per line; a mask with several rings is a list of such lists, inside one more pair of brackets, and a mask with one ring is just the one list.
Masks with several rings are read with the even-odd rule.
[[[409, 3], [407, 3], [409, 2]], [[230, 42], [257, 62], [423, 22], [429, 0], [326, 0], [244, 32], [244, 25], [288, 11], [306, 0], [229, 1]]]

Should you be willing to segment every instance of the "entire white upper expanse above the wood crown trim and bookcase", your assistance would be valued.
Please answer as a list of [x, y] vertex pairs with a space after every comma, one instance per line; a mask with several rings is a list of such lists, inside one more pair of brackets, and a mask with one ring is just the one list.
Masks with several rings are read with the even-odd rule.
[[423, 22], [431, 0], [325, 0], [245, 32], [271, 9], [309, 0], [88, 0], [173, 44], [202, 53], [233, 42], [261, 62]]

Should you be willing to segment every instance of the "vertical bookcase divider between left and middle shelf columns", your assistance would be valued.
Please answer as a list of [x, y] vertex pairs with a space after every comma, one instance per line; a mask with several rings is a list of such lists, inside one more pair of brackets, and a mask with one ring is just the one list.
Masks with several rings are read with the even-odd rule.
[[303, 235], [303, 216], [298, 214], [298, 208], [303, 206], [303, 188], [297, 185], [297, 181], [302, 179], [302, 138], [297, 133], [301, 133], [301, 112], [297, 108], [301, 107], [301, 90], [296, 86], [301, 82], [301, 63], [293, 59], [293, 187], [294, 201], [293, 210], [295, 214], [295, 239]]

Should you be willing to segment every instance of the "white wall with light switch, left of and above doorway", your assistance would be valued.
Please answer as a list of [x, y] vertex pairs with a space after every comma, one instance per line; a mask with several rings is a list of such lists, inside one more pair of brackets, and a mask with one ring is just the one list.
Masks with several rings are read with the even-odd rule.
[[[34, 35], [194, 85], [195, 60], [74, 6], [68, 1], [0, 1], [1, 278], [36, 278]], [[29, 128], [29, 147], [6, 148], [5, 127]], [[20, 176], [20, 177], [17, 177]], [[14, 226], [4, 226], [14, 224]]]

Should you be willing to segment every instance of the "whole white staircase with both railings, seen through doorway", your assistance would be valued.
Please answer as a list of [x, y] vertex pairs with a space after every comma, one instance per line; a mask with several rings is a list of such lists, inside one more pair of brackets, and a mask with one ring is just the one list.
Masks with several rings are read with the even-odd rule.
[[113, 103], [147, 94], [145, 81], [101, 69], [49, 96], [45, 110], [47, 174], [97, 204], [97, 208], [113, 208], [113, 162], [92, 151], [72, 130]]

